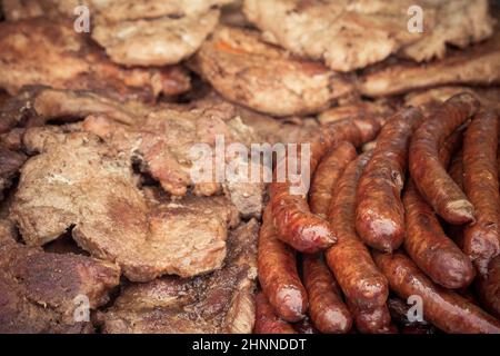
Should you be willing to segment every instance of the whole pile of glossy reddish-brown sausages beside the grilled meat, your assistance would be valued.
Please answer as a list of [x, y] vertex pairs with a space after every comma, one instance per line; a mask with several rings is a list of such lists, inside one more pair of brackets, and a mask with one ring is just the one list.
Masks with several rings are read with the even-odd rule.
[[326, 127], [309, 194], [269, 187], [254, 332], [411, 333], [413, 298], [420, 332], [500, 333], [499, 126], [460, 93]]

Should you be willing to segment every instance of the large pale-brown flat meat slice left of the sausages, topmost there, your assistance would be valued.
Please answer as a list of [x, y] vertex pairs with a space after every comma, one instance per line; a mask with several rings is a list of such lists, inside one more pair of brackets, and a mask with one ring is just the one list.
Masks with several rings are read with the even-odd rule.
[[92, 256], [118, 263], [131, 280], [190, 277], [219, 268], [238, 221], [223, 197], [154, 202], [136, 186], [131, 162], [90, 132], [32, 128], [11, 207], [24, 241], [40, 246], [72, 228]]

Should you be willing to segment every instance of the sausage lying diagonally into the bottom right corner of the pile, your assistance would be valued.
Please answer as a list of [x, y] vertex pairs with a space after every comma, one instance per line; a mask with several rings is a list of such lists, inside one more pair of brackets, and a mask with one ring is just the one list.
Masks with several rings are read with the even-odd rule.
[[449, 289], [434, 285], [403, 253], [374, 253], [373, 259], [401, 298], [422, 298], [423, 316], [446, 333], [500, 333], [500, 322]]

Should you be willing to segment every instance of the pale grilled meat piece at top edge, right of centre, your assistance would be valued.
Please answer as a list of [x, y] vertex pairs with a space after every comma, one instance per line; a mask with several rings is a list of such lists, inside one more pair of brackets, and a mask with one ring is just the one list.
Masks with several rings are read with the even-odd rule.
[[[263, 31], [266, 40], [294, 55], [324, 60], [333, 70], [351, 71], [383, 60], [422, 37], [407, 28], [407, 10], [414, 3], [246, 0], [244, 13]], [[431, 27], [436, 11], [426, 10], [426, 26]]]

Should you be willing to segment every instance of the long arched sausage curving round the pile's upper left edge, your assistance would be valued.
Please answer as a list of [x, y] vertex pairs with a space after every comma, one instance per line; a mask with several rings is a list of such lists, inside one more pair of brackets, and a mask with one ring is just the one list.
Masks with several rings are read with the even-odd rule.
[[[314, 137], [310, 145], [310, 169], [302, 175], [312, 175], [326, 152], [340, 144], [350, 141], [354, 146], [372, 140], [380, 130], [381, 119], [339, 120], [322, 128], [321, 135]], [[286, 171], [288, 156], [278, 162], [274, 178], [279, 171]], [[308, 181], [308, 177], [302, 177]], [[274, 226], [281, 240], [302, 253], [317, 253], [334, 243], [330, 224], [312, 214], [306, 200], [307, 194], [292, 194], [293, 184], [274, 179], [269, 185], [269, 196]]]

